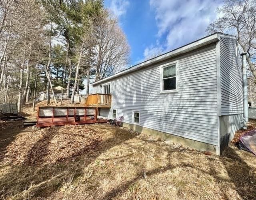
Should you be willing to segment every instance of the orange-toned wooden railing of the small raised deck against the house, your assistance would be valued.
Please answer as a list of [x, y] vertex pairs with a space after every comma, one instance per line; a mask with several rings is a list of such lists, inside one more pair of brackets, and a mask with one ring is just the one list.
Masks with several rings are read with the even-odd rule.
[[89, 94], [85, 102], [86, 107], [110, 108], [111, 94]]

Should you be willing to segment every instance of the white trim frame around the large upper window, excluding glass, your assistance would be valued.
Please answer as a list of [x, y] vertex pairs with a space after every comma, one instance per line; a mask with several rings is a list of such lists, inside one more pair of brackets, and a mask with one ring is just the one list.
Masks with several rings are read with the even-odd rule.
[[[171, 66], [171, 65], [174, 65], [175, 64], [175, 68], [176, 68], [176, 89], [175, 90], [163, 90], [163, 76], [164, 76], [164, 68], [168, 67], [168, 66]], [[162, 64], [159, 66], [160, 67], [160, 94], [162, 93], [172, 93], [172, 92], [178, 92], [178, 82], [179, 82], [179, 60], [175, 60], [173, 62], [169, 62], [167, 64]], [[171, 77], [170, 77], [171, 78]]]

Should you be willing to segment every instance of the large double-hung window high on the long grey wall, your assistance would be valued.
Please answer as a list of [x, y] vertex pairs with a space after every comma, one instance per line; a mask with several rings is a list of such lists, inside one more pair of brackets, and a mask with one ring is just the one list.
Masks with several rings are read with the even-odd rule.
[[160, 92], [178, 91], [178, 61], [160, 66]]

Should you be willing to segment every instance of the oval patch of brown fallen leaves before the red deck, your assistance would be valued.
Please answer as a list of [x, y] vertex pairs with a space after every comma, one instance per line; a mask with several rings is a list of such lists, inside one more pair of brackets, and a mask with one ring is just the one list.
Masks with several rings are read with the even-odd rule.
[[9, 153], [5, 160], [24, 165], [67, 162], [85, 152], [89, 154], [101, 140], [100, 134], [89, 126], [38, 129], [19, 134], [6, 148]]

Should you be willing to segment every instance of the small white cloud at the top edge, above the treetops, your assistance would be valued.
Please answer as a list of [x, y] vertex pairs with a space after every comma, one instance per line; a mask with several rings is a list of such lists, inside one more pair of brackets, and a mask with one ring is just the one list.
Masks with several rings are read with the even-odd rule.
[[120, 17], [126, 14], [126, 11], [130, 5], [128, 0], [112, 0], [110, 3], [110, 10], [116, 15]]

